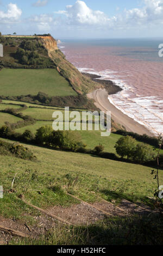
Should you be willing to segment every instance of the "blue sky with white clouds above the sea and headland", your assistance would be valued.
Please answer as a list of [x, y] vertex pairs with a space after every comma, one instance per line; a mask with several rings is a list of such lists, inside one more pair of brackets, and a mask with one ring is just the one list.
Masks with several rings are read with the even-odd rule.
[[58, 39], [162, 36], [163, 0], [0, 0], [0, 32]]

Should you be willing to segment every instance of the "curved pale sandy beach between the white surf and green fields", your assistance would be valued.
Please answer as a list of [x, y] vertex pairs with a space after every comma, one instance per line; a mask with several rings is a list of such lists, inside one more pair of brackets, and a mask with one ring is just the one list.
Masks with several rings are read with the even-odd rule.
[[108, 100], [108, 92], [105, 89], [96, 89], [92, 93], [87, 94], [89, 99], [95, 100], [95, 105], [101, 111], [111, 111], [111, 118], [117, 123], [126, 128], [127, 131], [136, 132], [140, 135], [146, 134], [148, 136], [154, 136], [152, 132], [146, 129], [145, 126], [137, 123], [134, 119], [128, 117], [122, 113]]

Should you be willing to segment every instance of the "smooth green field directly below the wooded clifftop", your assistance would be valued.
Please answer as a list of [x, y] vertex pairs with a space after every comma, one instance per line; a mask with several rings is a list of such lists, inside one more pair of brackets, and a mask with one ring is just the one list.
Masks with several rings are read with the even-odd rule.
[[49, 96], [77, 95], [54, 69], [3, 69], [0, 80], [1, 95], [4, 96], [37, 95], [39, 92]]

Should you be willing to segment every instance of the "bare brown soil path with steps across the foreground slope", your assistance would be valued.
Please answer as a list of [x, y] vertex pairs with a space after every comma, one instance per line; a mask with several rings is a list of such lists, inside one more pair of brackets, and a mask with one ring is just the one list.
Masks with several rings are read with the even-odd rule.
[[[114, 216], [122, 216], [127, 217], [133, 214], [151, 214], [156, 213], [156, 211], [152, 211], [146, 205], [135, 205], [127, 200], [122, 200], [121, 205], [118, 207], [114, 204], [101, 200], [100, 202], [96, 202], [92, 204], [96, 208], [99, 208], [105, 212]], [[72, 205], [70, 207], [64, 208], [61, 206], [54, 206], [51, 209], [46, 210], [48, 214], [53, 214], [58, 216], [65, 221], [70, 222], [73, 225], [84, 225], [95, 223], [99, 220], [104, 220], [104, 218], [111, 218], [104, 214], [103, 212], [93, 208], [91, 205], [87, 205], [85, 203], [80, 203], [77, 205]], [[0, 217], [0, 224], [3, 227], [12, 228], [18, 231], [21, 231], [23, 234], [26, 234], [30, 237], [38, 237], [39, 235], [45, 234], [46, 231], [52, 229], [58, 224], [58, 221], [55, 218], [49, 217], [46, 214], [40, 214], [40, 216], [35, 216], [36, 224], [29, 226], [22, 221], [10, 220], [6, 218]], [[64, 223], [62, 223], [64, 224]], [[4, 232], [0, 229], [0, 245], [8, 244], [12, 239], [12, 235]]]

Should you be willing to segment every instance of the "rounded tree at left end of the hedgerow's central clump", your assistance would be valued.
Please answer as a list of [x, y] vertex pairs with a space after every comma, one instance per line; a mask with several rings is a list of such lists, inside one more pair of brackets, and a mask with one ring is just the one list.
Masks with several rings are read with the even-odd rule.
[[41, 126], [36, 131], [35, 139], [38, 144], [51, 144], [51, 137], [52, 137], [53, 129], [49, 125]]

